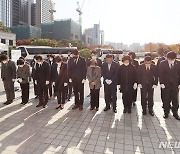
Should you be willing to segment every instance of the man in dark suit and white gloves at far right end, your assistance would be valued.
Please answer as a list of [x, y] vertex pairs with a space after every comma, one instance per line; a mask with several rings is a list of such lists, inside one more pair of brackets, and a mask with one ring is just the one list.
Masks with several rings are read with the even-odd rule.
[[[160, 63], [160, 85], [163, 92], [164, 118], [168, 118], [170, 109], [173, 116], [180, 120], [179, 109], [179, 89], [180, 89], [180, 62], [176, 60], [176, 53], [169, 52], [167, 60]], [[172, 107], [171, 107], [172, 102]]]

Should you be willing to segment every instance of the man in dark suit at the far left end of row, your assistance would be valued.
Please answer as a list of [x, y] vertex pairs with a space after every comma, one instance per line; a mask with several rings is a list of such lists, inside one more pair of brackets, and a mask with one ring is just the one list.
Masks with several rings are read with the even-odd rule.
[[11, 104], [15, 98], [14, 82], [16, 79], [16, 65], [13, 61], [9, 60], [7, 55], [1, 55], [1, 79], [4, 84], [7, 101], [5, 105]]

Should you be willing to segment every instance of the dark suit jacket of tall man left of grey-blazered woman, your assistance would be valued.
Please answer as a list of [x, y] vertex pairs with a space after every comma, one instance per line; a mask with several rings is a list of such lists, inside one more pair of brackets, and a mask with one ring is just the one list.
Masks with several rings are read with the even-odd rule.
[[79, 82], [81, 82], [83, 79], [86, 79], [87, 67], [84, 58], [79, 56], [77, 63], [76, 59], [72, 58], [68, 63], [68, 66], [69, 78]]

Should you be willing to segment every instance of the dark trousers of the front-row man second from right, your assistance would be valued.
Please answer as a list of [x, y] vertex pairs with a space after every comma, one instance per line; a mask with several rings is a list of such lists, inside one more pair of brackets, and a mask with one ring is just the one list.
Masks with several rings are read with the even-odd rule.
[[149, 110], [153, 109], [153, 105], [154, 105], [153, 95], [154, 95], [154, 89], [152, 88], [151, 85], [147, 84], [146, 86], [141, 88], [141, 106], [143, 111], [146, 111], [147, 104]]

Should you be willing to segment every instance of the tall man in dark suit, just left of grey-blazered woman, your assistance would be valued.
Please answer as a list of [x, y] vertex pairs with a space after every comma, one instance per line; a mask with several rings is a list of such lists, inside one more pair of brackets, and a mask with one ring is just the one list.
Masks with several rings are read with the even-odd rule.
[[86, 81], [86, 61], [83, 57], [79, 56], [78, 50], [72, 51], [73, 61], [69, 65], [69, 81], [72, 82], [74, 95], [75, 95], [75, 105], [73, 110], [79, 108], [83, 110], [84, 102], [84, 83]]

